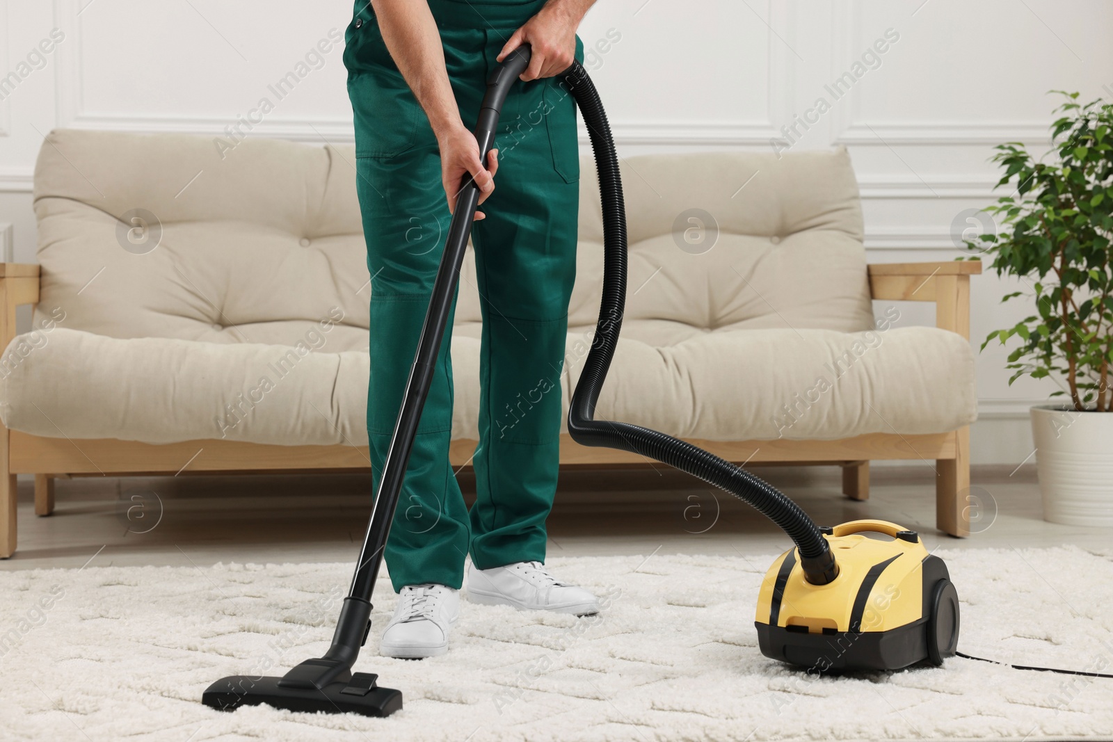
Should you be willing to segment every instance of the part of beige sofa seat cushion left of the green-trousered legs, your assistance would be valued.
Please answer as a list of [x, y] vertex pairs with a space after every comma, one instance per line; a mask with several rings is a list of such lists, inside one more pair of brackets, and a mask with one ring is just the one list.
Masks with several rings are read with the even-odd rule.
[[[37, 334], [37, 347], [19, 358], [20, 344]], [[17, 336], [0, 365], [4, 424], [36, 435], [367, 443], [366, 348], [317, 353], [307, 344], [122, 339], [56, 327]]]

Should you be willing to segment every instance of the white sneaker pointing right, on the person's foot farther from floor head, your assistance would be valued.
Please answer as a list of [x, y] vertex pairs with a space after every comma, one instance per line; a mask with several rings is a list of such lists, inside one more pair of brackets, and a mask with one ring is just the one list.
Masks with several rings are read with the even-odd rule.
[[578, 616], [599, 613], [599, 598], [583, 587], [556, 580], [541, 562], [514, 562], [493, 570], [467, 567], [467, 600], [513, 605], [520, 611], [553, 611]]

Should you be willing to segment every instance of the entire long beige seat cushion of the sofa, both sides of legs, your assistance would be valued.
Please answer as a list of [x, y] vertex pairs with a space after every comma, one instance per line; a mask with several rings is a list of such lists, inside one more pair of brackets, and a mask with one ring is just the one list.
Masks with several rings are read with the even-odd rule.
[[[975, 417], [969, 344], [930, 327], [692, 333], [629, 323], [598, 416], [720, 441], [943, 433]], [[45, 338], [45, 339], [43, 339]], [[591, 345], [569, 332], [564, 408]], [[479, 425], [477, 326], [453, 335], [453, 436]], [[112, 338], [56, 327], [0, 365], [0, 417], [47, 437], [367, 445], [366, 349]]]

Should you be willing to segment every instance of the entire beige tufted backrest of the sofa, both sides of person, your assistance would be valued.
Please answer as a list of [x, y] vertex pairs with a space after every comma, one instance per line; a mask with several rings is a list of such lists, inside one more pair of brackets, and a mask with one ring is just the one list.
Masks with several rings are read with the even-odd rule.
[[[354, 166], [351, 146], [247, 139], [220, 150], [208, 137], [55, 130], [35, 175], [38, 310], [112, 337], [364, 348], [371, 286]], [[845, 150], [639, 156], [622, 176], [631, 332], [868, 327]], [[580, 182], [570, 325], [590, 332], [602, 278], [590, 157]], [[709, 249], [709, 233], [699, 243], [700, 225], [686, 220], [692, 208], [717, 225]], [[144, 233], [132, 217], [147, 215], [157, 221]], [[471, 259], [464, 271], [460, 324], [480, 320]], [[318, 347], [315, 328], [329, 320]]]

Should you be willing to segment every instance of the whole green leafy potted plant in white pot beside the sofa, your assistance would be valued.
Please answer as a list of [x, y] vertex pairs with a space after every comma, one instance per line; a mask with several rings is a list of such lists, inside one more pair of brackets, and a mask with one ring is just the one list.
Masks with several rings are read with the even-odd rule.
[[[1062, 91], [1056, 91], [1062, 92]], [[1113, 105], [1066, 97], [1052, 125], [1053, 161], [1033, 158], [1018, 142], [1001, 145], [1005, 168], [997, 187], [1013, 194], [987, 211], [998, 235], [967, 241], [993, 258], [998, 276], [1025, 290], [1036, 314], [989, 333], [1017, 342], [1008, 355], [1018, 377], [1051, 378], [1065, 404], [1032, 408], [1044, 518], [1070, 525], [1113, 526]]]

